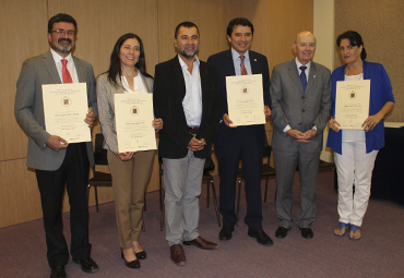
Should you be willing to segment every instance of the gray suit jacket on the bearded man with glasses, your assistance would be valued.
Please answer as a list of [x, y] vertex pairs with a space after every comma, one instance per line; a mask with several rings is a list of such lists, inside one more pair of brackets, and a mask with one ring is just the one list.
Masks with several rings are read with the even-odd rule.
[[[98, 114], [95, 95], [95, 77], [93, 67], [73, 57], [79, 82], [87, 84], [87, 101], [95, 114]], [[14, 114], [23, 130], [28, 134], [28, 154], [26, 166], [55, 171], [61, 166], [66, 149], [52, 150], [46, 146], [51, 134], [45, 130], [43, 90], [44, 84], [61, 84], [55, 60], [50, 51], [24, 61], [16, 82]], [[84, 119], [83, 119], [84, 120]], [[93, 144], [87, 142], [87, 155], [94, 165]]]

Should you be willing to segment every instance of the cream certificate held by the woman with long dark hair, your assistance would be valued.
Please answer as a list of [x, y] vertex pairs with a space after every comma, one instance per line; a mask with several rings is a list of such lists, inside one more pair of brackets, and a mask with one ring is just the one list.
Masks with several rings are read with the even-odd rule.
[[116, 94], [118, 152], [156, 149], [152, 94]]

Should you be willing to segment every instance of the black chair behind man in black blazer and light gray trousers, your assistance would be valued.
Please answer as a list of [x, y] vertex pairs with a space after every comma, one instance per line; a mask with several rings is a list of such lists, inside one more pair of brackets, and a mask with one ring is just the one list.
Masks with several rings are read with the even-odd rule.
[[[158, 190], [159, 190], [159, 204], [161, 204], [161, 210], [162, 210], [162, 215], [161, 215], [161, 230], [163, 231], [163, 227], [164, 227], [164, 217], [165, 217], [165, 210], [164, 210], [164, 200], [163, 200], [163, 192], [164, 192], [164, 189], [163, 189], [163, 173], [164, 173], [164, 166], [163, 166], [163, 159], [162, 157], [158, 157], [158, 165], [159, 165], [159, 186], [158, 186]], [[203, 168], [203, 177], [202, 177], [202, 183], [203, 182], [206, 182], [206, 206], [210, 207], [210, 184], [211, 184], [211, 188], [212, 188], [212, 194], [213, 194], [213, 202], [215, 204], [215, 213], [216, 213], [216, 219], [217, 219], [217, 225], [218, 227], [221, 227], [221, 216], [219, 216], [219, 213], [218, 213], [218, 205], [217, 205], [217, 196], [216, 196], [216, 189], [215, 189], [215, 184], [213, 183], [213, 177], [212, 174], [210, 173], [211, 171], [213, 171], [215, 169], [215, 164], [213, 162], [213, 159], [212, 159], [212, 156], [207, 157], [205, 159], [205, 165], [204, 165], [204, 168]]]

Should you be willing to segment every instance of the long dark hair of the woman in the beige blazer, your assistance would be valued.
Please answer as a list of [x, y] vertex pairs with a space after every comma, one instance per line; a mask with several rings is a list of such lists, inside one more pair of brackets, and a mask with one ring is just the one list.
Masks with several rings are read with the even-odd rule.
[[108, 71], [106, 71], [106, 73], [108, 73], [109, 83], [114, 85], [115, 87], [120, 86], [117, 83], [117, 75], [119, 75], [119, 80], [122, 76], [122, 70], [121, 70], [121, 64], [120, 64], [121, 61], [119, 59], [120, 48], [123, 45], [123, 43], [129, 38], [138, 39], [139, 45], [140, 45], [140, 56], [139, 56], [138, 62], [134, 64], [134, 68], [136, 68], [142, 75], [153, 78], [152, 75], [150, 75], [146, 72], [146, 62], [144, 58], [144, 48], [143, 48], [142, 39], [133, 33], [128, 33], [128, 34], [122, 35], [120, 38], [118, 38], [117, 43], [115, 44], [112, 53], [110, 55], [109, 69]]

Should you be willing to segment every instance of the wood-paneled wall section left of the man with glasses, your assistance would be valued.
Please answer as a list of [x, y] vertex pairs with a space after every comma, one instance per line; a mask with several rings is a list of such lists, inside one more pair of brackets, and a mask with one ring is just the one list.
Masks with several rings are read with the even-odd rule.
[[0, 9], [0, 228], [41, 217], [35, 173], [25, 167], [27, 136], [14, 118], [14, 97], [23, 61], [48, 48], [47, 22], [46, 0], [8, 1]]

